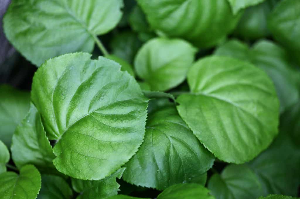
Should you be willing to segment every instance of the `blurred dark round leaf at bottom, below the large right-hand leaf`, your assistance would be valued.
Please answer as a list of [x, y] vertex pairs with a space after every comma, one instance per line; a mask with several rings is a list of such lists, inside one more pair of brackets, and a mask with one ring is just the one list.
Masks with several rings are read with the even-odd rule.
[[226, 166], [222, 174], [215, 173], [210, 178], [208, 189], [217, 199], [253, 199], [262, 194], [258, 177], [246, 165]]

